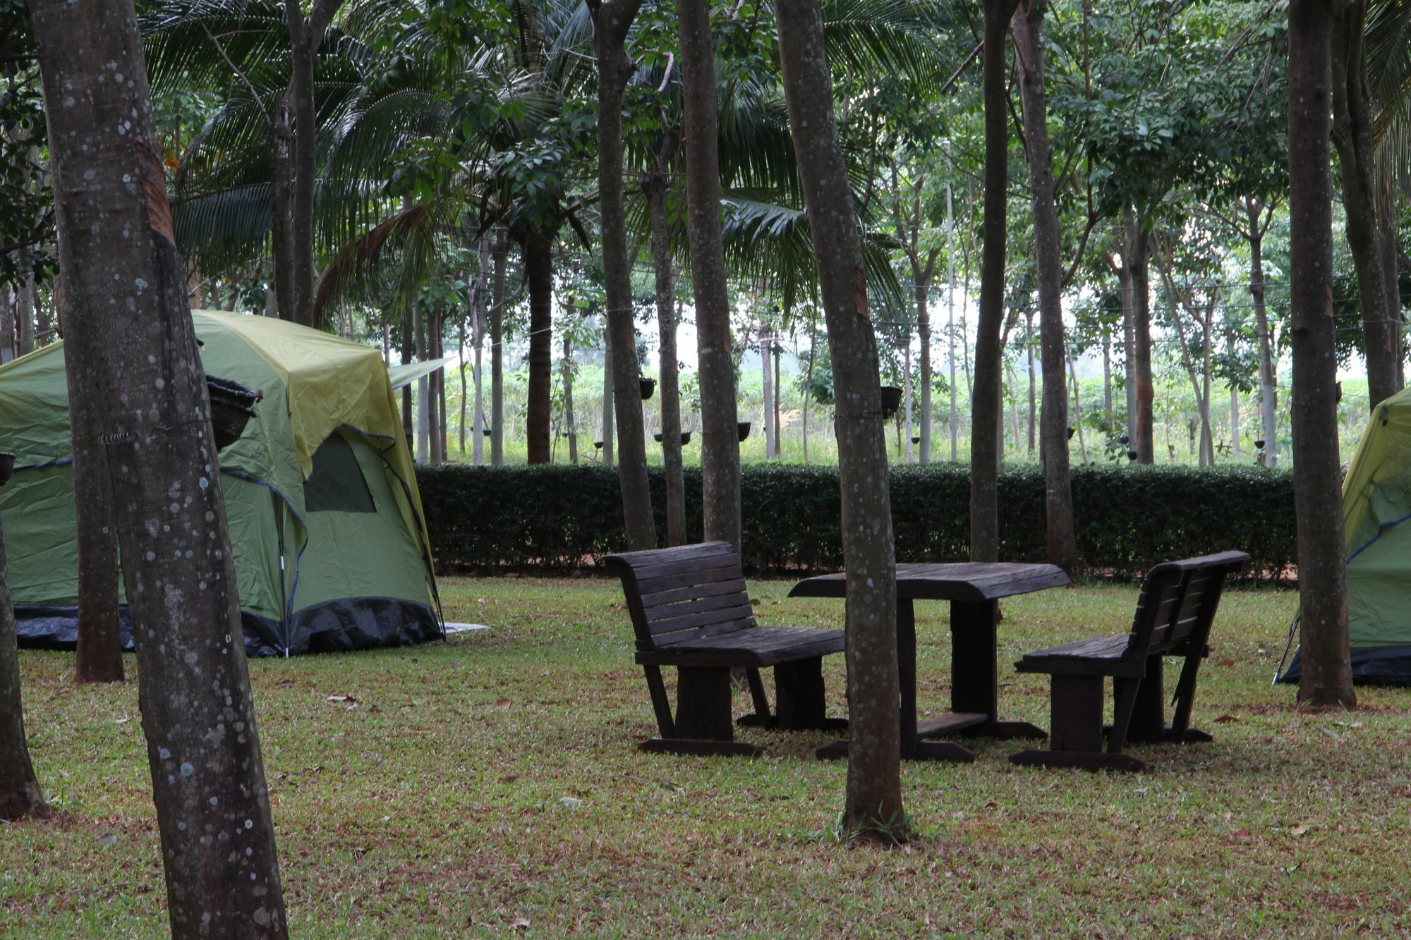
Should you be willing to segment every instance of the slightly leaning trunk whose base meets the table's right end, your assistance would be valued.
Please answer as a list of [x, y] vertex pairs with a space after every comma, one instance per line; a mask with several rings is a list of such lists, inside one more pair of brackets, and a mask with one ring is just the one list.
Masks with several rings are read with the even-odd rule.
[[1044, 460], [1044, 518], [1048, 562], [1070, 574], [1078, 566], [1078, 535], [1068, 469], [1068, 381], [1060, 281], [1058, 212], [1054, 207], [1053, 151], [1048, 147], [1048, 112], [1044, 102], [1043, 0], [1024, 0], [1013, 18], [1015, 55], [1019, 59], [1019, 93], [1024, 112], [1029, 181], [1034, 213], [1034, 267], [1038, 275], [1038, 342], [1044, 370], [1040, 438]]

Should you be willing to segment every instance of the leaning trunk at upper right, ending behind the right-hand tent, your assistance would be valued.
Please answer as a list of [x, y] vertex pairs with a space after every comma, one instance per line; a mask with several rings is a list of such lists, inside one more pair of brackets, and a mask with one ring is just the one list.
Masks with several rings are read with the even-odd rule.
[[1366, 0], [1338, 4], [1332, 38], [1332, 143], [1342, 175], [1342, 206], [1348, 220], [1348, 247], [1357, 270], [1362, 306], [1363, 353], [1367, 363], [1367, 402], [1376, 408], [1401, 384], [1401, 344], [1395, 322], [1400, 302], [1387, 296], [1383, 231], [1377, 224], [1377, 167], [1367, 93], [1367, 56], [1363, 47]]

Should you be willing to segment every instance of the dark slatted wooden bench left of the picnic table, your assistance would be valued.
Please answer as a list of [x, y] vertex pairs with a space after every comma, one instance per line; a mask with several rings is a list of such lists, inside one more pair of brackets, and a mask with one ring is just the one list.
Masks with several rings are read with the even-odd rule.
[[[636, 662], [656, 711], [659, 738], [643, 751], [756, 755], [734, 740], [731, 670], [744, 669], [755, 713], [741, 724], [780, 728], [838, 728], [823, 696], [823, 656], [842, 652], [841, 629], [759, 627], [745, 590], [739, 556], [728, 542], [706, 542], [604, 559], [622, 579], [636, 631]], [[662, 683], [662, 666], [676, 666], [676, 714]], [[777, 709], [759, 670], [775, 669]]]

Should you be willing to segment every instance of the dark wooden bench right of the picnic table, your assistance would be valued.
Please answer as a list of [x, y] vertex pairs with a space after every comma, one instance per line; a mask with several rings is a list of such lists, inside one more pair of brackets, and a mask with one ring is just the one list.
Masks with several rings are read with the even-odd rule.
[[[1091, 637], [1031, 652], [1015, 663], [1019, 672], [1053, 676], [1048, 749], [1020, 751], [1022, 765], [1112, 768], [1140, 771], [1137, 758], [1122, 754], [1126, 741], [1209, 741], [1191, 724], [1195, 675], [1206, 655], [1206, 638], [1225, 590], [1225, 579], [1245, 567], [1245, 552], [1221, 552], [1165, 562], [1147, 572], [1132, 620], [1132, 632]], [[1161, 659], [1184, 656], [1175, 683], [1175, 713], [1164, 723]], [[1113, 720], [1102, 725], [1102, 680], [1112, 676]], [[1102, 735], [1108, 734], [1108, 751]]]

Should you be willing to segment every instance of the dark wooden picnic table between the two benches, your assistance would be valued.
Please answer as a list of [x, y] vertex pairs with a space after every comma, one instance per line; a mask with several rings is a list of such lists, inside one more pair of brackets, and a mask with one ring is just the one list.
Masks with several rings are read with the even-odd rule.
[[[927, 738], [950, 734], [1043, 738], [1027, 721], [1000, 721], [996, 666], [999, 598], [1068, 584], [1055, 565], [962, 562], [896, 566], [896, 645], [902, 685], [902, 757], [919, 761], [974, 761], [969, 748]], [[844, 573], [806, 577], [789, 597], [845, 597]], [[916, 613], [913, 601], [951, 603], [951, 710], [926, 721], [916, 717]], [[847, 741], [818, 748], [820, 758], [841, 758]]]

